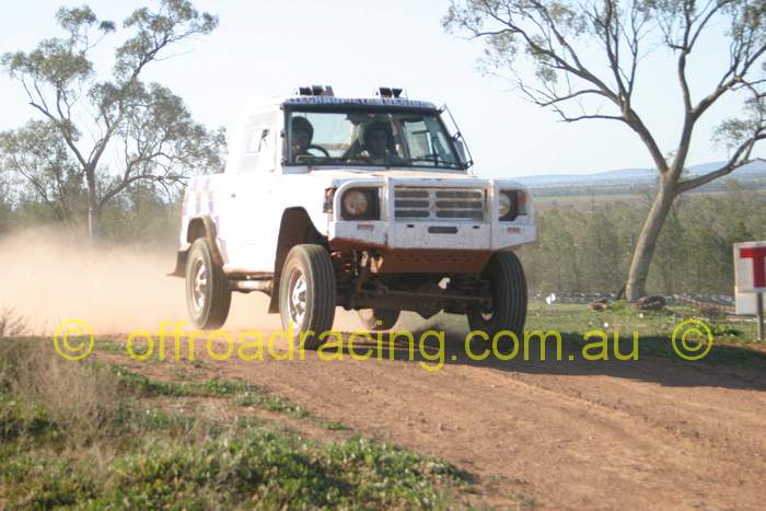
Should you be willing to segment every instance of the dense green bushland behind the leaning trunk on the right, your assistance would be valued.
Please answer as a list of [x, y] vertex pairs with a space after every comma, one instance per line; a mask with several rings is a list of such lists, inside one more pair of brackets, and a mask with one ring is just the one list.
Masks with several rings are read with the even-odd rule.
[[[617, 293], [649, 208], [632, 200], [608, 209], [539, 211], [539, 239], [520, 253], [530, 290]], [[732, 295], [732, 244], [753, 240], [766, 240], [763, 193], [732, 186], [719, 194], [689, 194], [668, 217], [647, 290]]]

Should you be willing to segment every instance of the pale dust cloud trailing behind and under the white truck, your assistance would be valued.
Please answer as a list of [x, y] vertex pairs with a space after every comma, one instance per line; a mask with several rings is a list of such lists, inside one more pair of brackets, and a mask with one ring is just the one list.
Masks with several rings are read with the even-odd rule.
[[[97, 334], [156, 333], [162, 322], [188, 321], [184, 280], [167, 277], [174, 268], [173, 248], [94, 247], [62, 232], [24, 231], [0, 239], [0, 309], [38, 335], [68, 320]], [[225, 328], [278, 328], [267, 306], [264, 294], [234, 293]]]

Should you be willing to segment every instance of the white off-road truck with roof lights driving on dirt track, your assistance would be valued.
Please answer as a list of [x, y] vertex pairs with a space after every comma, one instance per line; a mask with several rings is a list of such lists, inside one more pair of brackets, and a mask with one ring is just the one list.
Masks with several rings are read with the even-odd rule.
[[521, 334], [526, 281], [514, 247], [535, 240], [530, 193], [469, 172], [445, 107], [381, 88], [330, 88], [245, 112], [223, 174], [196, 177], [173, 275], [193, 323], [222, 326], [233, 291], [270, 295], [295, 339], [321, 344], [336, 306], [387, 329], [401, 311], [467, 314], [489, 336]]

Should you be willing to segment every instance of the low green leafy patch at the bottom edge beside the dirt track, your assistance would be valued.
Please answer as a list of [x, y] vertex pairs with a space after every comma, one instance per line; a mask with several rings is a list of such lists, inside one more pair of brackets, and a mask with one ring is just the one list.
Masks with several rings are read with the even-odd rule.
[[434, 483], [465, 480], [451, 465], [383, 443], [320, 445], [253, 428], [196, 449], [148, 442], [113, 466], [114, 490], [94, 502], [98, 507], [432, 508], [449, 501]]

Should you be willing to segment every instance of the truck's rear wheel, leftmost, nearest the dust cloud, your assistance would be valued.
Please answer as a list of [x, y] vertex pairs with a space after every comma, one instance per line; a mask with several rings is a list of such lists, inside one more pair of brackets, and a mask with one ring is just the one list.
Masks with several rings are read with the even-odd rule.
[[207, 237], [195, 240], [186, 257], [186, 309], [195, 327], [220, 328], [227, 322], [231, 290], [220, 266], [212, 260]]

